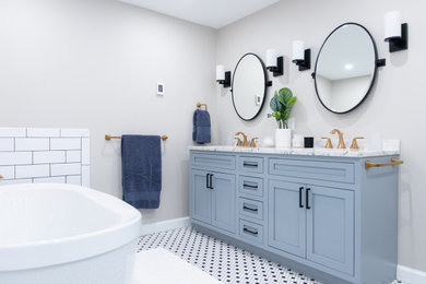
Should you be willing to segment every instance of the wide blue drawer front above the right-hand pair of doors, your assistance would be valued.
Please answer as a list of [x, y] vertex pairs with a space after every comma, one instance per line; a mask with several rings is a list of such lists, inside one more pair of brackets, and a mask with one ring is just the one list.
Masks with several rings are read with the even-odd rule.
[[344, 162], [300, 161], [270, 158], [269, 174], [335, 182], [354, 184], [354, 164]]

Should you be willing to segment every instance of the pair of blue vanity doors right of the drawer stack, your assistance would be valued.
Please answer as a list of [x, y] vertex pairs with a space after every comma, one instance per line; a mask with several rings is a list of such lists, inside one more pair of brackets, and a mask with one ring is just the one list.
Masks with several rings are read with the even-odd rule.
[[270, 180], [269, 246], [354, 273], [354, 192]]

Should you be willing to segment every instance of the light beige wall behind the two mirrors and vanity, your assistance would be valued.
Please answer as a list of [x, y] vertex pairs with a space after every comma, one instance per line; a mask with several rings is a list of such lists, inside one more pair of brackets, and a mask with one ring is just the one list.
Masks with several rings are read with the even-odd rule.
[[[230, 95], [217, 88], [218, 141], [226, 143], [236, 131], [250, 137], [273, 135], [276, 123], [267, 118], [272, 91], [288, 86], [298, 97], [294, 108], [296, 132], [319, 138], [340, 128], [346, 138], [379, 132], [383, 139], [400, 139], [405, 164], [400, 174], [399, 262], [426, 271], [426, 131], [424, 67], [426, 57], [425, 26], [422, 0], [282, 0], [259, 13], [218, 32], [216, 61], [234, 70], [246, 52], [265, 59], [265, 50], [274, 47], [285, 59], [285, 75], [273, 79], [265, 108], [255, 121], [245, 122], [235, 114]], [[410, 49], [389, 54], [383, 42], [383, 14], [400, 10], [410, 26]], [[358, 22], [376, 39], [379, 57], [387, 59], [372, 93], [356, 110], [334, 115], [326, 110], [316, 97], [311, 71], [299, 72], [288, 63], [292, 40], [303, 39], [312, 48], [313, 64], [326, 37], [344, 22]]]

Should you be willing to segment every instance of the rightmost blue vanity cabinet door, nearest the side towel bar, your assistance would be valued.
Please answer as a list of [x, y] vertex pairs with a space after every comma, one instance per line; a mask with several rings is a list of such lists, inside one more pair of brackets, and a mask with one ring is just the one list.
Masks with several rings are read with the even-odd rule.
[[354, 192], [308, 186], [307, 258], [331, 269], [354, 272]]

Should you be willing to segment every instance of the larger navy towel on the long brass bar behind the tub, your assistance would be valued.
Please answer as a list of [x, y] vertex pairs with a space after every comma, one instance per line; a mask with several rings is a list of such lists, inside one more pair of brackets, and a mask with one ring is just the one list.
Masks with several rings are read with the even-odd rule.
[[122, 200], [138, 209], [157, 209], [162, 189], [161, 138], [122, 135]]

